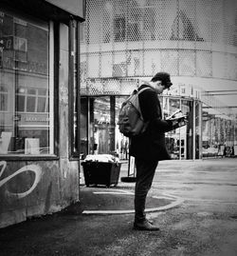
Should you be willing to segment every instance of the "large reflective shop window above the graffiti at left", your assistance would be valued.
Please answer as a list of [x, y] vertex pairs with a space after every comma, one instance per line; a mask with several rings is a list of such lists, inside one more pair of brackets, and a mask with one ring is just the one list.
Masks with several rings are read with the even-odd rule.
[[0, 156], [53, 154], [49, 28], [0, 10]]

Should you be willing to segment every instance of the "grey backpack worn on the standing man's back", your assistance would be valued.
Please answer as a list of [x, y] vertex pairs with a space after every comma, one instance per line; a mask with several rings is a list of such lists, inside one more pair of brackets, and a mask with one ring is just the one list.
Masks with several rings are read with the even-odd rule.
[[122, 103], [118, 113], [118, 129], [126, 137], [133, 137], [141, 134], [148, 126], [147, 122], [144, 122], [140, 106], [138, 95], [145, 89], [135, 89], [133, 93]]

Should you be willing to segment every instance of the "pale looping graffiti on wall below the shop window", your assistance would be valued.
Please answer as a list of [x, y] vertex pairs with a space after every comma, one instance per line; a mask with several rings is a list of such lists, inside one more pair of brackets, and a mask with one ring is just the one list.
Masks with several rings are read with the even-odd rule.
[[[1, 161], [0, 162], [0, 178], [3, 175], [5, 169], [7, 167], [7, 162], [6, 161]], [[36, 165], [28, 165], [26, 167], [21, 167], [20, 169], [18, 169], [17, 171], [15, 171], [14, 173], [10, 174], [8, 177], [0, 180], [0, 187], [2, 187], [4, 184], [8, 183], [9, 180], [13, 179], [16, 175], [19, 175], [20, 173], [26, 172], [26, 171], [32, 171], [34, 172], [35, 176], [34, 176], [34, 182], [31, 185], [31, 187], [29, 187], [27, 189], [27, 191], [25, 192], [21, 192], [21, 193], [13, 193], [10, 191], [6, 191], [7, 194], [9, 194], [10, 196], [16, 196], [17, 198], [23, 198], [26, 197], [28, 194], [30, 194], [35, 187], [37, 187], [38, 183], [40, 182], [41, 178], [42, 178], [42, 168]]]

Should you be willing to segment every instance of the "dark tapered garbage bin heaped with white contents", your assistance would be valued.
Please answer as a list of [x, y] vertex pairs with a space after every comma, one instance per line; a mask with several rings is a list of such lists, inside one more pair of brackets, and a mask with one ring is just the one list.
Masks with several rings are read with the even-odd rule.
[[101, 162], [101, 155], [100, 157], [94, 156], [93, 159], [85, 158], [82, 167], [86, 187], [90, 185], [105, 185], [106, 187], [118, 185], [121, 164], [117, 161], [111, 161], [111, 159], [109, 162]]

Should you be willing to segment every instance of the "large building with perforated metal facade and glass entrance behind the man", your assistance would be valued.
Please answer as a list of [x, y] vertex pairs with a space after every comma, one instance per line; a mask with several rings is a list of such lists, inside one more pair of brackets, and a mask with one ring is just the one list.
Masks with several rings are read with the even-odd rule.
[[161, 96], [164, 114], [181, 108], [189, 119], [187, 127], [167, 133], [173, 159], [234, 148], [236, 96], [214, 98], [210, 91], [237, 89], [236, 10], [234, 0], [88, 0], [81, 30], [81, 153], [127, 158], [118, 108], [162, 70], [173, 80]]

